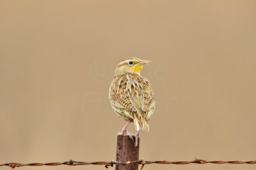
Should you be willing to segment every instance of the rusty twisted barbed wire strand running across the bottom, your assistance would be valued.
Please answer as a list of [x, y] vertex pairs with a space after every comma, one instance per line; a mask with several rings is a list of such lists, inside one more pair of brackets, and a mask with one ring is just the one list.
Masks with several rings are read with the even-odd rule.
[[20, 163], [6, 163], [6, 164], [0, 164], [0, 166], [9, 166], [12, 168], [15, 167], [21, 167], [21, 166], [60, 166], [60, 165], [67, 165], [67, 166], [86, 166], [86, 165], [97, 165], [97, 166], [105, 166], [108, 168], [109, 166], [113, 167], [114, 164], [141, 164], [141, 169], [147, 164], [177, 164], [177, 165], [185, 165], [185, 164], [256, 164], [256, 160], [250, 160], [250, 161], [241, 161], [241, 160], [202, 160], [202, 159], [195, 159], [192, 161], [168, 161], [168, 160], [136, 160], [136, 161], [128, 161], [128, 162], [118, 162], [111, 160], [111, 162], [79, 162], [75, 160], [69, 160], [65, 162], [48, 162], [48, 163], [29, 163], [29, 164], [20, 164]]

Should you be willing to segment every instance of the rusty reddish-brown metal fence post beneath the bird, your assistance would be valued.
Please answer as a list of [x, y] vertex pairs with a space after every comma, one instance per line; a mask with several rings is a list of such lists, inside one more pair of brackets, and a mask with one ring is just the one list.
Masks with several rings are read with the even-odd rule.
[[[135, 139], [134, 139], [135, 140]], [[116, 161], [128, 162], [139, 160], [140, 137], [138, 146], [134, 147], [134, 141], [128, 135], [118, 135], [116, 145]], [[116, 170], [138, 170], [139, 163], [116, 164]]]

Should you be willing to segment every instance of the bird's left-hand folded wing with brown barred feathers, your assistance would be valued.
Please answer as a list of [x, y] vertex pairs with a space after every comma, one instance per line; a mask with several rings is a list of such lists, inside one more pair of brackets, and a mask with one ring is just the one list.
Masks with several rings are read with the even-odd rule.
[[[128, 111], [137, 111], [136, 106], [132, 104], [129, 90], [127, 89], [128, 78], [125, 74], [116, 76], [109, 89], [109, 98], [115, 106]], [[131, 117], [132, 118], [132, 117]]]

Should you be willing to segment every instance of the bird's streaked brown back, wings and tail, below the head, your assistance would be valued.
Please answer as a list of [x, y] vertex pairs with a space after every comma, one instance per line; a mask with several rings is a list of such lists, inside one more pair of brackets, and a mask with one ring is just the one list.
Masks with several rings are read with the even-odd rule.
[[136, 73], [118, 73], [109, 88], [109, 100], [115, 113], [134, 122], [136, 130], [148, 131], [148, 120], [155, 110], [154, 92], [147, 80]]

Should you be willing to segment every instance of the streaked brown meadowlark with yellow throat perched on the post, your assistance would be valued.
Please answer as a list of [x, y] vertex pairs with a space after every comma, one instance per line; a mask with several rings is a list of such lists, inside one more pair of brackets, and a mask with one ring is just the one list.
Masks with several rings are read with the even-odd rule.
[[[148, 120], [156, 108], [154, 92], [147, 78], [140, 75], [144, 64], [149, 60], [138, 58], [125, 59], [116, 66], [113, 81], [109, 87], [109, 100], [116, 115], [127, 120], [121, 135], [135, 136], [134, 145], [138, 145], [140, 131], [149, 131]], [[127, 127], [134, 122], [136, 134], [127, 131]], [[133, 139], [133, 138], [132, 138]]]

